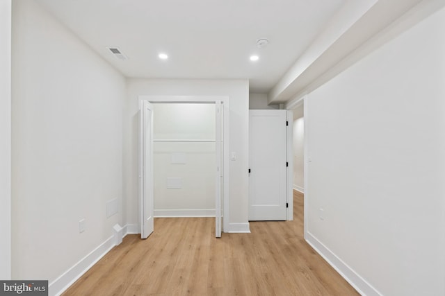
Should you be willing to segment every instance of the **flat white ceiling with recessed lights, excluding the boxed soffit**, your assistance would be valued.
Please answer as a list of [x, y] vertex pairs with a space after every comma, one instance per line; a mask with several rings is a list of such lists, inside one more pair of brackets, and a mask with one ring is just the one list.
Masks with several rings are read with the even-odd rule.
[[[124, 76], [249, 79], [268, 93], [346, 0], [36, 0]], [[270, 44], [258, 49], [256, 41]], [[129, 60], [108, 51], [118, 47]], [[166, 61], [158, 54], [169, 55]], [[250, 55], [259, 55], [257, 62]]]

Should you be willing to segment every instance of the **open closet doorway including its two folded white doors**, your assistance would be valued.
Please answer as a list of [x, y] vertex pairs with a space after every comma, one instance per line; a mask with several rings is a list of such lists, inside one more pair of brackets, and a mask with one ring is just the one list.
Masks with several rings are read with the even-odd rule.
[[141, 237], [165, 216], [214, 216], [220, 237], [229, 216], [228, 98], [140, 96], [139, 110]]

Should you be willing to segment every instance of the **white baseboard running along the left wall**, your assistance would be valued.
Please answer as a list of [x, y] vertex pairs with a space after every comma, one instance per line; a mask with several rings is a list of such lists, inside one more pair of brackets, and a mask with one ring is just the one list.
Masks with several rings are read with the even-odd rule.
[[60, 295], [67, 288], [70, 288], [75, 281], [77, 281], [82, 275], [85, 274], [92, 265], [95, 265], [97, 261], [102, 259], [106, 253], [110, 252], [110, 250], [115, 246], [115, 236], [110, 236], [104, 241], [104, 243], [100, 244], [95, 250], [92, 250], [90, 254], [86, 255], [79, 262], [74, 264], [72, 268], [67, 270], [60, 275], [57, 279], [49, 283], [49, 295]]

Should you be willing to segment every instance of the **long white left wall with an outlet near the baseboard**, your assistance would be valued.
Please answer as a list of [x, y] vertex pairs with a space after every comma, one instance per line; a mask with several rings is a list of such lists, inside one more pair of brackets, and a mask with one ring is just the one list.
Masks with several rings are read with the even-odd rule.
[[106, 202], [122, 202], [125, 91], [35, 1], [13, 1], [14, 279], [51, 284], [122, 223], [122, 211], [106, 218]]

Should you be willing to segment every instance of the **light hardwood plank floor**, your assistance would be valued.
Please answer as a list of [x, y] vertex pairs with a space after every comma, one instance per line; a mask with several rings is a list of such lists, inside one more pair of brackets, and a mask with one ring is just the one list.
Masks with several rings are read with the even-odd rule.
[[293, 221], [251, 222], [251, 234], [214, 237], [214, 218], [156, 218], [147, 240], [124, 238], [63, 295], [359, 295]]

